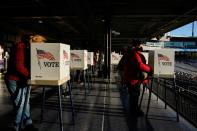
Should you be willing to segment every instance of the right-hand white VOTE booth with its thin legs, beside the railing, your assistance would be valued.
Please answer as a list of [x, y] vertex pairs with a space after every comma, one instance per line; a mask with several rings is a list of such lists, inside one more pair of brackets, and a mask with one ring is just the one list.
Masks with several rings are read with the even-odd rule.
[[[176, 119], [179, 121], [179, 111], [178, 111], [178, 91], [176, 88], [176, 80], [175, 80], [175, 50], [173, 49], [155, 49], [149, 51], [149, 58], [148, 58], [148, 64], [153, 69], [153, 78], [157, 78], [157, 97], [158, 97], [158, 87], [160, 86], [160, 80], [164, 82], [164, 103], [165, 103], [165, 109], [167, 108], [167, 94], [166, 94], [166, 81], [172, 81], [173, 83], [173, 90], [174, 90], [174, 101], [175, 101], [175, 110], [176, 110]], [[162, 79], [160, 79], [162, 78]], [[167, 79], [166, 79], [167, 78]], [[149, 87], [149, 97], [148, 97], [148, 105], [146, 110], [146, 118], [148, 117], [149, 107], [150, 107], [150, 101], [151, 101], [151, 92], [152, 92], [152, 86], [153, 86], [153, 79], [151, 82], [151, 85]], [[144, 92], [144, 88], [143, 91]], [[141, 97], [141, 101], [143, 98], [143, 93]], [[141, 102], [140, 102], [141, 103]]]

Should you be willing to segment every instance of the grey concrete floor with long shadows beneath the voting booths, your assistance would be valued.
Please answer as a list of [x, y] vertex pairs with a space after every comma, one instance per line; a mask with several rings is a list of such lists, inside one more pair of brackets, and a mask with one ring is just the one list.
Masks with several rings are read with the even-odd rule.
[[[98, 79], [96, 79], [98, 80]], [[40, 131], [58, 131], [59, 114], [56, 89], [47, 89], [44, 120], [40, 122], [42, 88], [31, 92], [31, 114], [36, 127]], [[104, 80], [96, 81], [88, 91], [85, 99], [83, 86], [73, 85], [73, 102], [75, 108], [75, 124], [72, 122], [70, 101], [63, 98], [64, 131], [196, 131], [185, 119], [180, 117], [176, 122], [176, 113], [168, 107], [164, 108], [161, 100], [153, 95], [148, 120], [140, 117], [133, 121], [128, 113], [128, 96], [117, 81], [107, 84]], [[147, 94], [142, 103], [142, 110], [147, 107]], [[6, 129], [11, 122], [12, 105], [3, 80], [0, 84], [0, 131]]]

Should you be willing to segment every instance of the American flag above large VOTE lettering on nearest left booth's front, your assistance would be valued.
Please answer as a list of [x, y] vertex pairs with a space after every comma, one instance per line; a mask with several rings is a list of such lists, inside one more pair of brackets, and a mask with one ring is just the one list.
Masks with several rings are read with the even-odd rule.
[[45, 59], [52, 60], [52, 61], [55, 60], [54, 56], [50, 52], [40, 50], [40, 49], [37, 49], [37, 56], [38, 56], [38, 59], [45, 58]]

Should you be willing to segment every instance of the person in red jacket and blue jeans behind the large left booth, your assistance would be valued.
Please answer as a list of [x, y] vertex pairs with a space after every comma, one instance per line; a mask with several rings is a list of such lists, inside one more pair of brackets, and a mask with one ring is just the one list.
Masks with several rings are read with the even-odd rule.
[[[25, 96], [27, 93], [27, 80], [30, 78], [30, 35], [21, 37], [21, 41], [16, 43], [10, 51], [8, 69], [5, 74], [5, 84], [11, 95], [13, 102], [14, 120], [13, 128], [10, 130], [18, 131], [24, 107]], [[30, 115], [30, 105], [24, 112], [23, 131], [38, 131], [32, 124]]]

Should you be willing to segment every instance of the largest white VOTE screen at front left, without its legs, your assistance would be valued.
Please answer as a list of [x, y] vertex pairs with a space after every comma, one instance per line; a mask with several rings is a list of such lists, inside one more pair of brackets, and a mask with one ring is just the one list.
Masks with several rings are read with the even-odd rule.
[[31, 44], [31, 80], [61, 80], [70, 77], [70, 45]]

